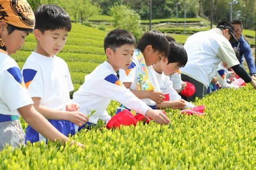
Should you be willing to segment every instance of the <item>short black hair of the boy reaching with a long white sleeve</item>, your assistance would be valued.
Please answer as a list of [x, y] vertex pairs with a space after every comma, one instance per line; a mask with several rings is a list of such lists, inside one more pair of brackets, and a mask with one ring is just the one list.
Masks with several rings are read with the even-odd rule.
[[129, 31], [123, 29], [115, 29], [110, 31], [104, 39], [105, 52], [107, 48], [111, 48], [115, 51], [116, 48], [125, 44], [134, 45], [135, 47], [136, 40]]

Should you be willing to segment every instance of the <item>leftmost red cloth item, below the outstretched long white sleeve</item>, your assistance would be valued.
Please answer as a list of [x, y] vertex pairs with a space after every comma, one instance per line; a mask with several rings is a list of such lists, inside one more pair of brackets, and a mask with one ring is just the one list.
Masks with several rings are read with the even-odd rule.
[[106, 128], [112, 129], [112, 128], [120, 128], [120, 125], [134, 125], [136, 126], [137, 120], [133, 116], [133, 114], [128, 111], [127, 109], [124, 109], [122, 112], [119, 112], [115, 116], [113, 116], [107, 123]]

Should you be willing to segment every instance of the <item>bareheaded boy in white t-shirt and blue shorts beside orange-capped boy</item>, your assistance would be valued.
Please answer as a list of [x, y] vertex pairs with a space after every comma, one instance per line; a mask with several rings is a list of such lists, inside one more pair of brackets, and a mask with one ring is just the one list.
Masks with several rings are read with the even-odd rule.
[[[77, 112], [77, 104], [71, 104], [69, 92], [74, 87], [68, 65], [55, 56], [66, 43], [71, 21], [63, 8], [57, 5], [39, 6], [35, 11], [35, 18], [34, 35], [37, 46], [22, 68], [25, 85], [37, 111], [49, 119], [62, 134], [73, 135], [73, 123], [81, 126], [87, 122], [87, 117]], [[25, 142], [42, 140], [45, 140], [43, 135], [31, 126], [27, 127]]]

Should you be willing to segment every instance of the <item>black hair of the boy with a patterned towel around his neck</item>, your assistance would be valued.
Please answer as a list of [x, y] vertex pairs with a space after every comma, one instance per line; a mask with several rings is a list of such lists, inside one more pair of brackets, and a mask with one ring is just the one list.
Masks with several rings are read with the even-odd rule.
[[164, 53], [164, 56], [169, 54], [170, 46], [165, 35], [157, 30], [152, 30], [144, 33], [140, 38], [137, 45], [137, 49], [141, 50], [143, 53], [148, 45], [151, 45], [154, 51]]

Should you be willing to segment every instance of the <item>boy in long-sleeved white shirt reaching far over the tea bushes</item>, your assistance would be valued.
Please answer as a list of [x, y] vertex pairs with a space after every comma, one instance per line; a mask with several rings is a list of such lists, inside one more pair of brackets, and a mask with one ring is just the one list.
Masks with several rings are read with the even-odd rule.
[[107, 61], [87, 74], [85, 82], [74, 93], [73, 101], [79, 104], [80, 111], [86, 115], [95, 111], [89, 118], [87, 123], [89, 126], [96, 124], [99, 118], [106, 113], [111, 100], [116, 100], [142, 115], [153, 118], [159, 124], [170, 122], [162, 111], [151, 109], [129, 89], [126, 89], [116, 77], [119, 69], [127, 69], [130, 66], [135, 42], [135, 38], [126, 30], [110, 31], [104, 40]]

